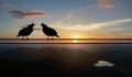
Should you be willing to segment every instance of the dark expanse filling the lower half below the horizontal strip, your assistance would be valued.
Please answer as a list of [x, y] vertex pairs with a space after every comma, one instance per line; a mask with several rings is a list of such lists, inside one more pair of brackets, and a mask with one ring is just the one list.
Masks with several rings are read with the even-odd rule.
[[0, 44], [0, 76], [131, 77], [131, 59], [130, 43]]

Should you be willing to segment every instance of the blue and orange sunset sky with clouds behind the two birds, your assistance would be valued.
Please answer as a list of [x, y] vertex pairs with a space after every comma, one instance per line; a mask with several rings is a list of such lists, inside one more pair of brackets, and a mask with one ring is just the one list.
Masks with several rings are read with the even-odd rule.
[[30, 37], [45, 38], [42, 22], [61, 38], [132, 38], [132, 0], [0, 0], [0, 38], [31, 23]]

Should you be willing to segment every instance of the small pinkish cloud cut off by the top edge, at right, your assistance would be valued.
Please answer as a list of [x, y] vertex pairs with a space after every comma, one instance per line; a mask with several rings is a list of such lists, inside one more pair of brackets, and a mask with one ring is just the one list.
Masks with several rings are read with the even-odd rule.
[[100, 9], [114, 8], [113, 0], [98, 0]]

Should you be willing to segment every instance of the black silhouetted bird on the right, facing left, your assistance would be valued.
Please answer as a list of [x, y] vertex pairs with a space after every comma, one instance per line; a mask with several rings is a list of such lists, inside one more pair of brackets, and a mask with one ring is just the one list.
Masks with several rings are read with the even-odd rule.
[[43, 30], [44, 34], [47, 35], [47, 40], [50, 40], [50, 36], [52, 36], [51, 40], [53, 40], [53, 36], [59, 37], [59, 36], [57, 35], [57, 32], [56, 32], [54, 29], [48, 28], [48, 26], [47, 26], [46, 24], [44, 24], [44, 23], [42, 23], [41, 25], [42, 25], [42, 28], [43, 28], [42, 30]]

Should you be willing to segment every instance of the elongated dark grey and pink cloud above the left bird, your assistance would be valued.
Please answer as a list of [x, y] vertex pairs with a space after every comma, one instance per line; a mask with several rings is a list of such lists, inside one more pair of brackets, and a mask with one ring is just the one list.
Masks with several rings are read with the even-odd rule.
[[46, 15], [46, 13], [38, 12], [38, 11], [23, 12], [23, 11], [16, 10], [16, 11], [10, 11], [9, 13], [11, 13], [12, 16], [14, 16], [15, 19], [42, 18]]

